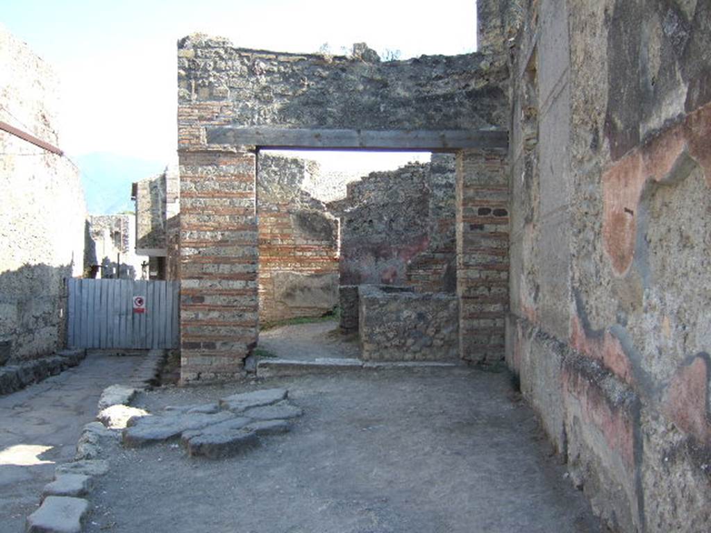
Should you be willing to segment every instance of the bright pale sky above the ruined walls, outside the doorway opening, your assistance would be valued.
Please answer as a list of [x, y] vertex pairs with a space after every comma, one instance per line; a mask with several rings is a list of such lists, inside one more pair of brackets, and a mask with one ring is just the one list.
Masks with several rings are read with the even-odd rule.
[[365, 41], [402, 58], [474, 50], [474, 0], [433, 7], [412, 0], [2, 0], [0, 23], [58, 72], [60, 146], [80, 167], [92, 154], [85, 181], [96, 186], [109, 179], [97, 154], [107, 154], [114, 174], [124, 158], [129, 183], [174, 161], [178, 38], [200, 31], [291, 52], [328, 43], [333, 53]]

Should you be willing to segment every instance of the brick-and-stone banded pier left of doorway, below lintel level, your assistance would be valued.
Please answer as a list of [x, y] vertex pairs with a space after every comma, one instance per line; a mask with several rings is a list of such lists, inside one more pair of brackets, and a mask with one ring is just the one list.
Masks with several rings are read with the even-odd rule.
[[186, 150], [181, 176], [181, 379], [235, 379], [257, 342], [255, 154]]

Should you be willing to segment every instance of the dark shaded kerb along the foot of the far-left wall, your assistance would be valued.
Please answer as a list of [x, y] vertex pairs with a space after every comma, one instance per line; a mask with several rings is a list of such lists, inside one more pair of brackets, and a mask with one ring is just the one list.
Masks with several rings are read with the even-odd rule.
[[85, 357], [86, 350], [62, 350], [48, 357], [0, 367], [0, 396], [58, 375], [79, 365]]

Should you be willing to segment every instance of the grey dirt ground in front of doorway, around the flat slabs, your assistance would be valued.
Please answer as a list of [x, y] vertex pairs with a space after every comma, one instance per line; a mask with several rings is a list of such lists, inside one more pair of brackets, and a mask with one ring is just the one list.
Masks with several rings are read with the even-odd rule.
[[134, 404], [213, 402], [286, 387], [289, 434], [242, 456], [188, 458], [178, 443], [106, 448], [87, 531], [240, 533], [599, 532], [505, 373], [357, 370], [162, 387]]

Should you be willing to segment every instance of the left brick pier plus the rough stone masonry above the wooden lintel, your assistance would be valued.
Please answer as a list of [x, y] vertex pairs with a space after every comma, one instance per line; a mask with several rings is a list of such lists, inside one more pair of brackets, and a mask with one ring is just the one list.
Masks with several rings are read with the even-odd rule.
[[400, 141], [412, 131], [434, 132], [440, 142], [441, 131], [454, 131], [458, 139], [456, 132], [464, 132], [469, 139], [471, 131], [506, 129], [507, 77], [500, 57], [479, 53], [368, 63], [363, 56], [244, 50], [198, 35], [182, 39], [183, 382], [240, 375], [257, 340], [253, 150], [285, 145], [247, 144], [240, 131], [249, 129], [249, 139], [285, 133], [298, 139], [310, 129], [331, 139], [344, 130], [373, 131], [379, 140], [391, 131]]

